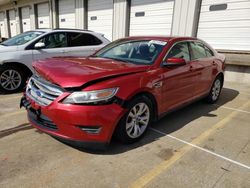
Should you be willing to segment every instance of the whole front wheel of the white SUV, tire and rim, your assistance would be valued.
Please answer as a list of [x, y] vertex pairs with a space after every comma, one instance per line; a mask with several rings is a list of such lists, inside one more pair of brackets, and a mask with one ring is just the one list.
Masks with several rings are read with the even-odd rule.
[[21, 91], [26, 83], [27, 76], [19, 67], [2, 65], [0, 67], [0, 92], [4, 94]]

